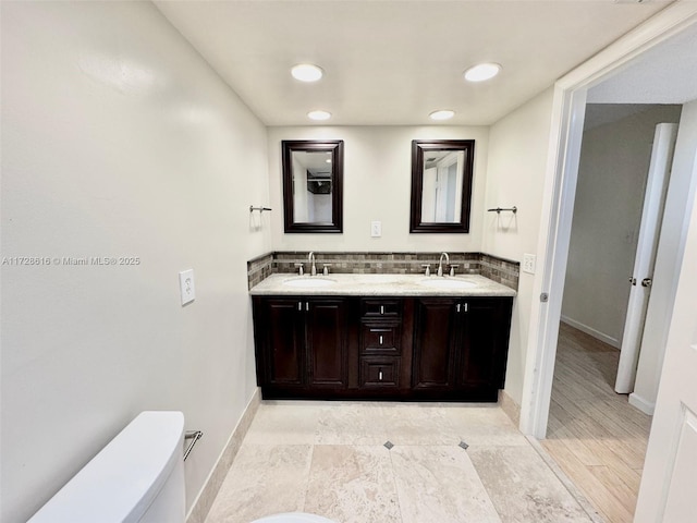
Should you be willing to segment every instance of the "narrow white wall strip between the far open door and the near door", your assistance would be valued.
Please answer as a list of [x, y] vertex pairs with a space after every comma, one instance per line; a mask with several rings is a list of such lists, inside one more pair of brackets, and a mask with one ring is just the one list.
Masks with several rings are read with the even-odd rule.
[[[685, 251], [685, 239], [697, 181], [694, 179], [697, 157], [697, 100], [683, 106], [675, 142], [673, 169], [665, 196], [665, 211], [659, 239], [651, 301], [669, 303], [670, 306], [657, 311], [662, 320], [657, 328], [648, 329], [641, 340], [641, 352], [636, 372], [634, 392], [629, 402], [645, 412], [652, 412], [658, 396], [658, 387], [663, 368], [668, 331], [673, 316], [673, 303], [677, 293], [681, 264]], [[684, 268], [683, 268], [684, 270]], [[693, 267], [692, 270], [695, 270]], [[652, 313], [652, 311], [649, 311]], [[682, 314], [694, 314], [683, 311]]]

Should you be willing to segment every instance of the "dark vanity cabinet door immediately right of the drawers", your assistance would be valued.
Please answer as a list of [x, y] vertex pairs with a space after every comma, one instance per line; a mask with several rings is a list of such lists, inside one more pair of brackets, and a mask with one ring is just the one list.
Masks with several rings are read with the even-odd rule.
[[454, 299], [418, 299], [415, 309], [413, 387], [453, 386], [454, 340], [457, 325]]

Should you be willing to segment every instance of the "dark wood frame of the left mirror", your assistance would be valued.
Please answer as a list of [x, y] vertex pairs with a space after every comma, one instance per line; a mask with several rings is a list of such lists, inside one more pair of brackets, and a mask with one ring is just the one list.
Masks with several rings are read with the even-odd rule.
[[[343, 170], [344, 142], [342, 139], [284, 139], [282, 147], [283, 169], [283, 221], [285, 232], [343, 232]], [[331, 153], [331, 221], [295, 222], [293, 198], [293, 153]]]

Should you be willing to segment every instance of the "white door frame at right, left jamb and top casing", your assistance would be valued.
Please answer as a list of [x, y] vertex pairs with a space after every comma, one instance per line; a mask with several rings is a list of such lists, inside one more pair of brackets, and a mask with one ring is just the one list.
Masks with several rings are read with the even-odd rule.
[[521, 401], [521, 430], [538, 439], [547, 434], [586, 93], [694, 24], [697, 24], [696, 3], [672, 3], [554, 84], [537, 248], [542, 267], [533, 283]]

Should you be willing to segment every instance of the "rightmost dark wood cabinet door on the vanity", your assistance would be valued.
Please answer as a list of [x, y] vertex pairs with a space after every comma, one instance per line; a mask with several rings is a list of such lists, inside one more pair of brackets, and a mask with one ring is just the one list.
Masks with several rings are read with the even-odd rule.
[[464, 300], [461, 317], [458, 385], [502, 389], [511, 329], [511, 300]]

